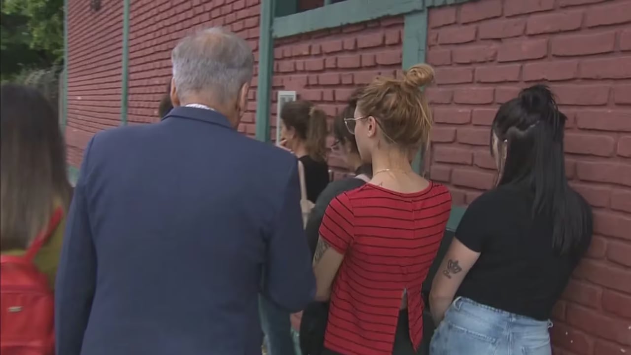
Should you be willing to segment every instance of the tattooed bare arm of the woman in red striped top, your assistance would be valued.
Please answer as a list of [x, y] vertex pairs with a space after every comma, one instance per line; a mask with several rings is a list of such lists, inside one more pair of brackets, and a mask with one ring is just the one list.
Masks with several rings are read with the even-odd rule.
[[316, 301], [326, 301], [331, 297], [331, 286], [342, 260], [344, 260], [344, 255], [331, 248], [322, 237], [318, 239], [313, 261]]

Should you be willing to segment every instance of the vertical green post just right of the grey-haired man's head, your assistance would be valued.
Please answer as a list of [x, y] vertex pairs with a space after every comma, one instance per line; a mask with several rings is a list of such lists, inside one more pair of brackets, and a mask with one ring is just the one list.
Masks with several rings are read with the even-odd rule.
[[[128, 0], [127, 0], [128, 1]], [[269, 141], [269, 104], [274, 64], [274, 5], [276, 0], [261, 2], [261, 28], [259, 29], [259, 81], [256, 88], [256, 139]]]

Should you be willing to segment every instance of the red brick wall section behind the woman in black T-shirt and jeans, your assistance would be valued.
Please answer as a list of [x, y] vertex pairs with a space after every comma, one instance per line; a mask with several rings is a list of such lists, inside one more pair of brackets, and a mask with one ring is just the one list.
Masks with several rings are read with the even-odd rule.
[[548, 83], [569, 116], [567, 173], [594, 207], [595, 236], [555, 309], [555, 354], [631, 352], [630, 24], [628, 0], [480, 0], [429, 13], [430, 174], [454, 203], [492, 188], [489, 125], [520, 88]]

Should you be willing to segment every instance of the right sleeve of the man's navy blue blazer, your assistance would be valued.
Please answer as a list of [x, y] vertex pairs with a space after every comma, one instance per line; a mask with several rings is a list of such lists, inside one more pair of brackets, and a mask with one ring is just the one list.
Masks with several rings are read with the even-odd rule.
[[288, 311], [300, 311], [315, 296], [315, 277], [300, 209], [298, 164], [290, 168], [268, 239], [263, 292]]

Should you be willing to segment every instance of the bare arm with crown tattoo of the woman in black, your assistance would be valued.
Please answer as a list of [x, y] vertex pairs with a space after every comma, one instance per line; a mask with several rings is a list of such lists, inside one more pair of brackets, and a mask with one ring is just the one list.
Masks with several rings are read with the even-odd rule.
[[430, 292], [430, 310], [435, 324], [439, 324], [445, 312], [454, 300], [456, 291], [471, 267], [480, 257], [480, 253], [467, 248], [454, 238], [440, 263], [439, 274], [434, 277]]

